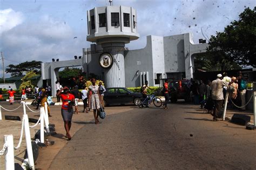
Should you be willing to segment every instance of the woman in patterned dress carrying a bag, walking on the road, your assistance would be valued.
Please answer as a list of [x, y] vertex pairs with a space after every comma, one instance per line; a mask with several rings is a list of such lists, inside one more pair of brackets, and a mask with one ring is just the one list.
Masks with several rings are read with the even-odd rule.
[[[89, 86], [89, 91], [87, 96], [89, 96], [89, 106], [93, 109], [93, 114], [95, 118], [95, 124], [99, 123], [99, 108], [100, 108], [100, 95], [99, 95], [99, 86], [96, 85], [96, 79], [91, 79], [92, 85]], [[91, 95], [90, 95], [91, 93]], [[97, 113], [96, 113], [97, 111]]]

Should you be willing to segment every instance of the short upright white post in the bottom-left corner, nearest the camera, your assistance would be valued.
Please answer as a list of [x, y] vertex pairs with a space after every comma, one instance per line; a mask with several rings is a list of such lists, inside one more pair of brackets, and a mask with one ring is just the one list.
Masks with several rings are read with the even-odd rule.
[[4, 143], [8, 145], [5, 155], [5, 169], [14, 170], [14, 137], [12, 134], [4, 135]]

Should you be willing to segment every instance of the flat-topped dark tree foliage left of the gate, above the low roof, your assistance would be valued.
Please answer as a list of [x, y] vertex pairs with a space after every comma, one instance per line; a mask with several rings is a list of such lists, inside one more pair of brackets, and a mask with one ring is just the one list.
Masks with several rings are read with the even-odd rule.
[[6, 73], [11, 73], [11, 77], [24, 76], [24, 73], [32, 71], [36, 74], [41, 74], [41, 63], [35, 60], [31, 62], [19, 63], [17, 65], [10, 64], [9, 68], [5, 69]]

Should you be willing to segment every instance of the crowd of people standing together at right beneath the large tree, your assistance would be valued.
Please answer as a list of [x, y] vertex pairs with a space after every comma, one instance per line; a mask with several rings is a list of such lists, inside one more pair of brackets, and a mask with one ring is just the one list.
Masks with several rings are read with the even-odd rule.
[[217, 79], [208, 80], [206, 85], [202, 80], [193, 80], [191, 78], [187, 83], [187, 88], [190, 90], [190, 97], [194, 104], [204, 107], [208, 99], [213, 101], [213, 120], [217, 121], [217, 118], [222, 117], [220, 108], [223, 107], [223, 101], [226, 93], [230, 98], [230, 105], [240, 106], [240, 110], [246, 110], [245, 107], [245, 93], [246, 93], [246, 81], [242, 77], [242, 73], [238, 72], [237, 75], [228, 77], [227, 73], [217, 75]]

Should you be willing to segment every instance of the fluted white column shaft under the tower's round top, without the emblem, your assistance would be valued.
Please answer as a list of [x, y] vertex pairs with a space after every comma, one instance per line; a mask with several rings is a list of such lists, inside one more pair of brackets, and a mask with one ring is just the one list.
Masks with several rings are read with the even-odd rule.
[[113, 65], [104, 69], [105, 86], [125, 87], [124, 51], [119, 50], [124, 47], [124, 43], [104, 43], [102, 46], [104, 52], [113, 56]]

